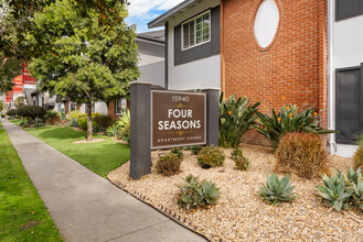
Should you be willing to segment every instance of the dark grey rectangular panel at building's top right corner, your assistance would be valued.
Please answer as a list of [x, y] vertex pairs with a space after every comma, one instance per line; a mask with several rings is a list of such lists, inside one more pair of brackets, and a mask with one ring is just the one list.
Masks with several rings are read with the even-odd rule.
[[335, 20], [363, 14], [363, 0], [335, 0]]

